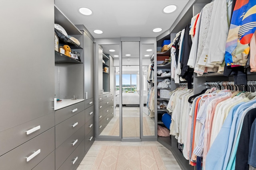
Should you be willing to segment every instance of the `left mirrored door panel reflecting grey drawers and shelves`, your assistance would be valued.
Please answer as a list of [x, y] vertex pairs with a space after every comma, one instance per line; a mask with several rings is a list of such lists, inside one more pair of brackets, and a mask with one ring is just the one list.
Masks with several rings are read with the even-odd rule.
[[119, 136], [119, 107], [116, 107], [119, 95], [116, 88], [119, 84], [119, 45], [99, 45], [98, 49], [99, 74], [102, 74], [99, 76], [99, 99], [102, 100], [99, 102], [100, 135]]

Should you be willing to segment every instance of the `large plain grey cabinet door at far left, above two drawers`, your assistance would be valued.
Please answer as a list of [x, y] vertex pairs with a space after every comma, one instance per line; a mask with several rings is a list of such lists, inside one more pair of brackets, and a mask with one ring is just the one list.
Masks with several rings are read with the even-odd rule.
[[[21, 8], [24, 3], [29, 5]], [[0, 28], [0, 131], [54, 112], [54, 0], [6, 1], [0, 15], [6, 14]]]

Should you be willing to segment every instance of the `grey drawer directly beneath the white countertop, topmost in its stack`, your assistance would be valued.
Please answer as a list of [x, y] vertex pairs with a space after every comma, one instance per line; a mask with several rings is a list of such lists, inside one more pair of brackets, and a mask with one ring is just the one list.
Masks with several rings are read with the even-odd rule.
[[55, 125], [84, 110], [84, 101], [55, 111]]

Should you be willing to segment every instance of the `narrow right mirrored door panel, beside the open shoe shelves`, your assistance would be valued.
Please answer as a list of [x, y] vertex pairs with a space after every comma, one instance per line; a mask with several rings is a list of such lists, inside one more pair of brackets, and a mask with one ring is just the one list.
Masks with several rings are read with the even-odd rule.
[[154, 44], [142, 44], [142, 72], [143, 72], [143, 136], [154, 136], [154, 75], [151, 70], [154, 61]]

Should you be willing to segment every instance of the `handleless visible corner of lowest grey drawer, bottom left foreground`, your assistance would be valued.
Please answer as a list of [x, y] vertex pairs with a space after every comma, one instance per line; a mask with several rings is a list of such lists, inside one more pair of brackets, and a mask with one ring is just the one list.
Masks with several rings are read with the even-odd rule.
[[54, 170], [55, 169], [55, 162], [54, 162], [55, 151], [50, 153], [42, 162], [36, 165], [35, 168], [32, 170]]

